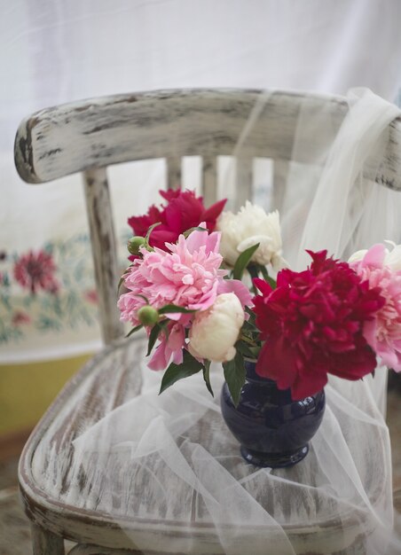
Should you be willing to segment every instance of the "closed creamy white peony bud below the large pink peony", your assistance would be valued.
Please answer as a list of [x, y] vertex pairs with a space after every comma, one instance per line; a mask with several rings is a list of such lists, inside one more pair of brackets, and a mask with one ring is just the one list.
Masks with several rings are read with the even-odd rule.
[[209, 309], [197, 312], [194, 317], [189, 332], [190, 353], [215, 363], [232, 360], [243, 323], [244, 310], [237, 295], [217, 295]]

